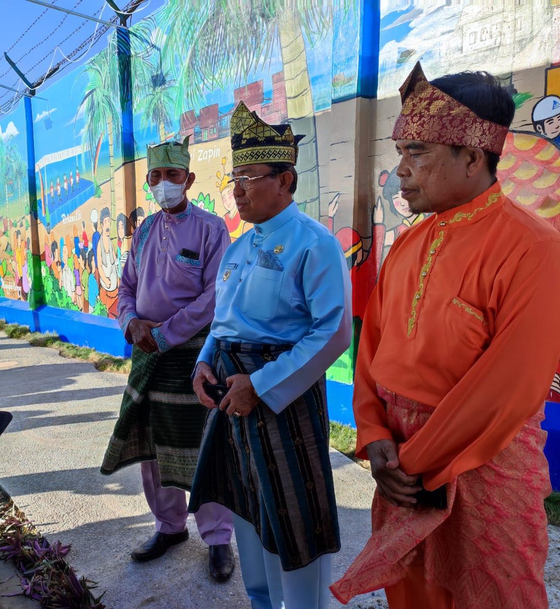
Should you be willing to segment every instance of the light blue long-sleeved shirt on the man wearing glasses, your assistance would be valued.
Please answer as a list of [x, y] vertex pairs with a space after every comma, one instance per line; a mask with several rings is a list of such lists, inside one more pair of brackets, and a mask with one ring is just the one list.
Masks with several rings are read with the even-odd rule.
[[294, 345], [251, 374], [257, 395], [278, 413], [321, 378], [351, 334], [351, 283], [340, 244], [292, 202], [226, 250], [198, 361], [212, 365], [214, 339]]

